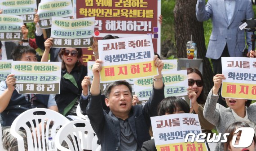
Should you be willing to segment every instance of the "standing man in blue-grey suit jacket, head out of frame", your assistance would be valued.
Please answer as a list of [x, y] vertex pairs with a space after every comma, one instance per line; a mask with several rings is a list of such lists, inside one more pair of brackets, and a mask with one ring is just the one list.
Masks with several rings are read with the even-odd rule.
[[198, 21], [212, 20], [212, 34], [206, 57], [212, 60], [214, 75], [222, 73], [221, 57], [243, 57], [247, 42], [252, 50], [251, 32], [240, 31], [244, 19], [254, 18], [251, 0], [197, 0], [196, 17]]

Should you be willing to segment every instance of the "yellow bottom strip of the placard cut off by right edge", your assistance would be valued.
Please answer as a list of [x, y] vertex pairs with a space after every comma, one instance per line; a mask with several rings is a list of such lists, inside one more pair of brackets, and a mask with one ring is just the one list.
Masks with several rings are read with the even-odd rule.
[[222, 82], [222, 97], [254, 100], [256, 84], [238, 84]]

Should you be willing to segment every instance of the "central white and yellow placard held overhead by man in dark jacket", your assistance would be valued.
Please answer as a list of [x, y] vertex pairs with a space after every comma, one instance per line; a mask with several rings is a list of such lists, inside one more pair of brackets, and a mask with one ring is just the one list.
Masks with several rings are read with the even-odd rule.
[[150, 35], [99, 40], [98, 49], [102, 82], [158, 75]]

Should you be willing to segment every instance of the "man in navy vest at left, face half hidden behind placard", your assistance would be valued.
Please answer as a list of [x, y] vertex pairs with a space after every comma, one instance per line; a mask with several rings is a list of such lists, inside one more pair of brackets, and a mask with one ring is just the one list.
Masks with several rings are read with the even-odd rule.
[[[18, 46], [12, 52], [15, 61], [37, 62], [36, 51], [30, 46]], [[6, 80], [0, 83], [0, 115], [2, 118], [2, 143], [8, 151], [18, 151], [17, 139], [10, 134], [10, 126], [14, 119], [24, 111], [31, 108], [48, 108], [58, 112], [54, 95], [18, 94], [15, 90], [16, 79], [13, 74], [7, 76]], [[40, 125], [41, 126], [41, 125]], [[41, 130], [41, 127], [39, 128]], [[20, 135], [26, 138], [26, 131], [19, 131]], [[26, 139], [24, 139], [26, 141]], [[27, 150], [27, 143], [25, 150]]]

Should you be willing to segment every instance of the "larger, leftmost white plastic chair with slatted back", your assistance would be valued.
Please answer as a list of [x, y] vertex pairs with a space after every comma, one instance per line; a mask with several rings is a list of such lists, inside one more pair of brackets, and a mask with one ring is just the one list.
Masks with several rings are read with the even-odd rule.
[[[39, 127], [40, 122], [44, 122], [44, 120], [47, 120], [46, 128], [44, 129], [44, 124], [42, 124], [42, 135], [40, 136], [40, 130], [36, 130], [36, 128]], [[27, 147], [29, 151], [46, 151], [46, 144], [48, 143], [49, 137], [52, 137], [54, 141], [56, 130], [68, 122], [69, 120], [65, 116], [51, 109], [29, 109], [15, 118], [10, 133], [17, 138], [19, 151], [25, 150], [23, 138], [17, 133], [20, 128], [26, 130]], [[37, 140], [38, 143], [36, 143], [36, 141], [34, 143], [33, 140]], [[55, 150], [57, 151], [56, 148]]]

